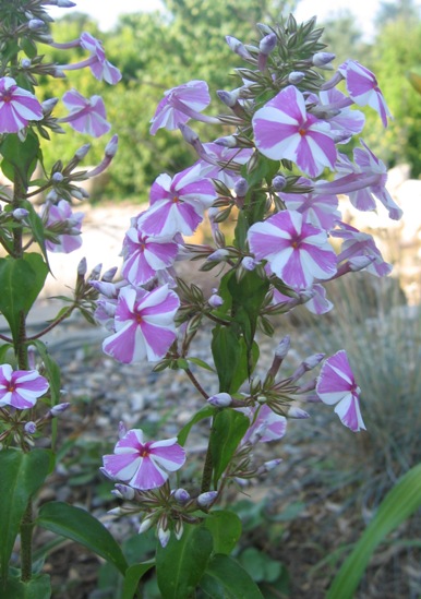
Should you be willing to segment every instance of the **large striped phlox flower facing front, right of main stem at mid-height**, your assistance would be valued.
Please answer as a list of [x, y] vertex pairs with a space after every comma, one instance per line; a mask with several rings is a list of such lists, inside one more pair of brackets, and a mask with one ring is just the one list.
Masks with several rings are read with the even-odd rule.
[[297, 211], [274, 214], [248, 232], [251, 251], [267, 260], [270, 272], [294, 290], [336, 273], [336, 254], [324, 230], [306, 223]]

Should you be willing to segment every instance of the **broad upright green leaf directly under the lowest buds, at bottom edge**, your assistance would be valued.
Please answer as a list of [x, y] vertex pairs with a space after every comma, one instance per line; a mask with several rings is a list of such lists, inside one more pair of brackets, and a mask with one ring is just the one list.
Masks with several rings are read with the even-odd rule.
[[212, 535], [201, 526], [184, 525], [178, 541], [173, 535], [166, 548], [157, 544], [156, 574], [165, 599], [188, 599], [206, 570], [212, 553]]

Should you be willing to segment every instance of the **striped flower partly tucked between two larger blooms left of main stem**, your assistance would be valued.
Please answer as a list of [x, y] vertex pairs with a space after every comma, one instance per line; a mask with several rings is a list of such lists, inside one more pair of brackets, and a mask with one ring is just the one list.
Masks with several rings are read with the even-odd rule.
[[152, 280], [157, 271], [171, 266], [178, 244], [170, 238], [148, 237], [136, 227], [130, 227], [123, 241], [122, 276], [135, 287]]

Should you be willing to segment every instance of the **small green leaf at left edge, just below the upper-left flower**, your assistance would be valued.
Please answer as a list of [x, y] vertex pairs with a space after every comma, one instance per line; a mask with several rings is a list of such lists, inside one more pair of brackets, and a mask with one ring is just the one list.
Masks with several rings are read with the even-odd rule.
[[[28, 131], [24, 142], [17, 134], [5, 135], [0, 144], [0, 154], [3, 156], [1, 168], [4, 175], [15, 180], [15, 173], [21, 184], [26, 189], [39, 157], [39, 140], [33, 131]], [[4, 170], [5, 169], [5, 170]]]

